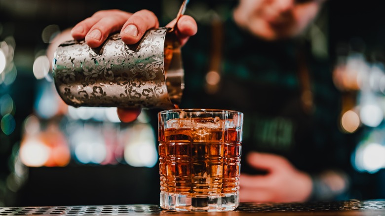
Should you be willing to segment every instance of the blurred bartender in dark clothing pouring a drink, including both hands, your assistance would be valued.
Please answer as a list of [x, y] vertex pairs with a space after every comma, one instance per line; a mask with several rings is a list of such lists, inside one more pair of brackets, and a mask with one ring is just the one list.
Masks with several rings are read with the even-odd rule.
[[[340, 95], [328, 61], [312, 55], [304, 37], [323, 4], [239, 0], [224, 21], [198, 26], [184, 15], [177, 23], [185, 67], [180, 108], [244, 113], [241, 202], [347, 198], [349, 152], [339, 150], [346, 144], [337, 125]], [[79, 22], [71, 35], [98, 47], [120, 32], [133, 44], [157, 27], [149, 10], [104, 10]], [[139, 113], [118, 109], [124, 122]]]

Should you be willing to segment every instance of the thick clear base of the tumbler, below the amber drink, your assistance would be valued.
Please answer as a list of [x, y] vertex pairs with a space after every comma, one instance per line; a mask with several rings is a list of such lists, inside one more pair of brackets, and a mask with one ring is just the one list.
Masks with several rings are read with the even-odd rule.
[[225, 212], [239, 205], [239, 192], [190, 196], [186, 194], [160, 192], [160, 207], [178, 212]]

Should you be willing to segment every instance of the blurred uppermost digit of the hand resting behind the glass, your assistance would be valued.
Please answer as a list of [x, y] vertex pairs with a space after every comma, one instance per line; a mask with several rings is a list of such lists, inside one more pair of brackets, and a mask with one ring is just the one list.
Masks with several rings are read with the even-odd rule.
[[275, 154], [250, 152], [246, 156], [246, 161], [253, 168], [268, 172], [288, 168], [287, 160]]

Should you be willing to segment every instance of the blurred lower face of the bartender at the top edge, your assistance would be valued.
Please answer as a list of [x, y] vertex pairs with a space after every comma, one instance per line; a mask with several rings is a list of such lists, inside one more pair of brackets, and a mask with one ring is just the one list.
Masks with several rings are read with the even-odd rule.
[[266, 40], [299, 35], [314, 19], [324, 0], [240, 0], [237, 23]]

